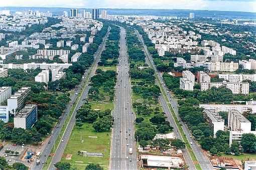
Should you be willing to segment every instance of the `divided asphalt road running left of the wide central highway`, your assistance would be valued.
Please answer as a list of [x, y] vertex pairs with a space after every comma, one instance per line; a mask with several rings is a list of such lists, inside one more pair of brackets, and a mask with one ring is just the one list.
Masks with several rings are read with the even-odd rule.
[[[92, 76], [94, 75], [94, 73], [95, 73], [95, 71], [96, 71], [97, 63], [98, 63], [98, 61], [99, 61], [99, 59], [100, 59], [101, 52], [102, 52], [102, 51], [104, 50], [104, 48], [105, 48], [105, 42], [106, 42], [107, 36], [108, 36], [108, 34], [109, 34], [109, 30], [110, 30], [110, 28], [108, 29], [108, 32], [107, 32], [106, 35], [104, 36], [101, 45], [98, 47], [97, 51], [96, 51], [95, 54], [94, 54], [94, 58], [95, 58], [96, 64], [94, 65], [93, 68], [91, 68], [92, 70], [91, 70], [91, 69], [88, 69], [88, 70], [85, 71], [84, 77], [86, 77], [86, 76], [88, 76], [88, 75], [89, 75], [90, 77], [92, 77]], [[76, 88], [75, 93], [79, 93], [79, 91], [81, 90], [82, 84], [86, 83], [86, 82], [85, 82], [85, 79], [86, 79], [86, 78], [84, 78], [84, 79], [81, 81], [81, 83], [79, 84], [78, 88]], [[61, 116], [60, 122], [59, 122], [59, 123], [53, 128], [53, 130], [52, 130], [52, 134], [51, 134], [51, 136], [50, 136], [50, 138], [49, 138], [50, 143], [46, 142], [45, 145], [43, 146], [43, 149], [42, 149], [42, 151], [41, 151], [41, 156], [40, 156], [40, 158], [39, 158], [39, 159], [41, 160], [40, 164], [39, 164], [39, 165], [36, 165], [36, 161], [34, 161], [34, 163], [33, 163], [32, 167], [31, 167], [31, 169], [33, 169], [33, 170], [34, 170], [34, 169], [35, 169], [35, 170], [37, 170], [37, 169], [38, 169], [38, 170], [39, 170], [39, 169], [42, 169], [42, 168], [43, 168], [43, 165], [44, 165], [44, 164], [42, 163], [42, 161], [46, 161], [46, 160], [47, 160], [47, 158], [48, 158], [48, 156], [49, 156], [49, 154], [50, 154], [50, 152], [51, 152], [51, 150], [52, 150], [53, 147], [57, 147], [56, 152], [55, 152], [55, 154], [54, 154], [53, 157], [52, 157], [52, 161], [51, 161], [50, 166], [49, 166], [48, 164], [46, 165], [46, 166], [49, 166], [49, 169], [56, 169], [56, 167], [54, 166], [54, 164], [55, 164], [56, 162], [58, 162], [58, 161], [61, 160], [61, 157], [62, 157], [62, 155], [63, 155], [63, 153], [64, 153], [64, 150], [65, 150], [65, 147], [66, 147], [66, 145], [67, 145], [68, 139], [69, 139], [70, 134], [71, 134], [71, 132], [72, 132], [72, 129], [73, 129], [74, 125], [75, 125], [75, 120], [76, 120], [76, 119], [75, 119], [75, 115], [76, 115], [76, 111], [79, 109], [80, 106], [83, 105], [83, 102], [84, 102], [83, 99], [87, 97], [89, 88], [90, 88], [90, 87], [88, 86], [88, 83], [87, 83], [85, 89], [83, 90], [83, 93], [81, 94], [81, 96], [80, 96], [80, 98], [79, 98], [78, 103], [75, 105], [75, 111], [72, 113], [72, 117], [70, 118], [70, 121], [65, 124], [65, 119], [67, 118], [67, 115], [68, 115], [69, 111], [70, 111], [71, 108], [72, 108], [73, 102], [75, 101], [75, 99], [76, 99], [76, 97], [77, 97], [77, 96], [75, 95], [75, 93], [70, 96], [71, 101], [68, 103], [68, 106], [67, 106], [67, 108], [66, 108], [64, 114]], [[66, 130], [65, 130], [63, 136], [59, 136], [59, 135], [60, 135], [60, 130], [61, 130], [61, 128], [62, 128], [63, 125], [65, 125]], [[57, 126], [58, 126], [58, 127], [57, 127]], [[61, 137], [61, 140], [63, 140], [63, 142], [61, 142], [60, 144], [59, 144], [59, 143], [55, 143], [57, 137]], [[58, 144], [59, 144], [59, 145], [58, 145]], [[44, 154], [46, 154], [46, 156], [44, 156]]]

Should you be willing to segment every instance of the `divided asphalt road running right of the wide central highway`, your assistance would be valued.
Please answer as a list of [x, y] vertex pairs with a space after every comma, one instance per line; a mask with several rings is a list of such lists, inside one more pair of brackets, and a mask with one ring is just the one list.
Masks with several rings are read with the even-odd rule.
[[[163, 88], [164, 88], [164, 91], [166, 92], [166, 94], [167, 94], [167, 96], [168, 96], [168, 100], [169, 100], [170, 104], [172, 105], [172, 108], [173, 108], [173, 110], [174, 110], [174, 112], [175, 112], [175, 114], [176, 114], [178, 120], [180, 120], [180, 122], [181, 122], [181, 124], [182, 124], [182, 129], [183, 129], [185, 135], [187, 136], [188, 141], [193, 143], [193, 144], [190, 144], [190, 145], [191, 145], [191, 148], [192, 148], [192, 150], [194, 151], [194, 153], [195, 153], [195, 155], [196, 155], [196, 158], [197, 158], [199, 164], [201, 165], [201, 167], [202, 167], [203, 170], [213, 169], [213, 167], [212, 167], [212, 165], [211, 165], [209, 159], [208, 159], [208, 158], [206, 157], [206, 155], [203, 153], [201, 147], [200, 147], [199, 145], [197, 145], [196, 141], [195, 141], [192, 137], [190, 137], [190, 136], [192, 136], [192, 134], [191, 134], [191, 132], [189, 131], [188, 126], [181, 120], [181, 118], [180, 118], [180, 116], [179, 116], [179, 114], [178, 114], [178, 103], [177, 103], [177, 101], [174, 100], [173, 97], [172, 97], [172, 95], [171, 95], [171, 93], [168, 92], [168, 88], [166, 87], [165, 81], [164, 81], [164, 79], [163, 79], [161, 73], [157, 71], [156, 66], [155, 66], [155, 63], [154, 63], [154, 61], [153, 61], [153, 57], [152, 57], [151, 54], [149, 53], [148, 48], [147, 48], [147, 46], [146, 46], [145, 43], [144, 43], [144, 40], [143, 40], [142, 35], [141, 35], [138, 31], [137, 31], [137, 34], [139, 35], [139, 39], [140, 39], [141, 42], [143, 43], [146, 56], [148, 57], [148, 59], [150, 60], [150, 62], [151, 62], [152, 65], [153, 65], [155, 71], [157, 72], [157, 76], [158, 76], [158, 78], [160, 79], [161, 84], [162, 84], [162, 86], [163, 86]], [[173, 117], [172, 117], [170, 111], [167, 112], [167, 113], [169, 114], [168, 119], [169, 119], [169, 118], [172, 118], [172, 119], [173, 119]], [[172, 123], [172, 122], [171, 122], [171, 123]], [[174, 123], [173, 125], [176, 126], [175, 123]], [[176, 127], [176, 129], [177, 129], [177, 127]], [[186, 153], [186, 152], [187, 152], [187, 153]], [[187, 149], [184, 149], [184, 152], [183, 152], [183, 153], [184, 153], [184, 158], [185, 158], [185, 160], [186, 160], [186, 163], [189, 165], [189, 169], [194, 169], [195, 167], [194, 167], [194, 164], [192, 164], [192, 159], [191, 159], [191, 157], [190, 157], [190, 156], [186, 156], [186, 155], [188, 155], [188, 150], [187, 150]], [[191, 159], [191, 160], [190, 160], [190, 159]]]

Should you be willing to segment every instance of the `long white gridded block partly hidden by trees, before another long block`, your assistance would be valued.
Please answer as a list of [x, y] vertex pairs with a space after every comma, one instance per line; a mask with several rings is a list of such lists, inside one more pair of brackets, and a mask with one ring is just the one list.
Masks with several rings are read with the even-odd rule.
[[221, 86], [225, 86], [230, 89], [233, 94], [249, 94], [249, 83], [248, 82], [201, 82], [201, 90], [207, 90], [212, 87], [219, 88]]

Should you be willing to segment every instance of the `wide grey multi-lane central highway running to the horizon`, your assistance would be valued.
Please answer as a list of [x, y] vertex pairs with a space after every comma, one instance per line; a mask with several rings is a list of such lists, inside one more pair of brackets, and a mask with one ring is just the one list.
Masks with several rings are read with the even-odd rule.
[[[135, 114], [132, 109], [131, 84], [129, 75], [129, 56], [125, 40], [125, 29], [120, 27], [119, 63], [115, 86], [115, 107], [109, 169], [137, 169], [137, 150], [134, 135]], [[133, 153], [129, 154], [129, 148]]]

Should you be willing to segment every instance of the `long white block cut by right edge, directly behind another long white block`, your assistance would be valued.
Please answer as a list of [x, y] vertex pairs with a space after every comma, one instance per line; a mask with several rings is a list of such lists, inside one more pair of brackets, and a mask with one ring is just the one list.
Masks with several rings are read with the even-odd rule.
[[229, 82], [242, 82], [243, 80], [256, 81], [256, 74], [219, 74], [219, 78]]

